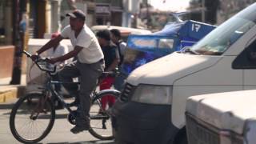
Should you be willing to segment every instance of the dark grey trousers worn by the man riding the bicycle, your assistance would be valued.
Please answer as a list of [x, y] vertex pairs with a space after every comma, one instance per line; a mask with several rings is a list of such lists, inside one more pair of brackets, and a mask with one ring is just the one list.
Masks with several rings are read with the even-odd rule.
[[[98, 77], [102, 74], [105, 64], [101, 60], [92, 64], [81, 62], [72, 62], [66, 65], [58, 76], [62, 82], [72, 82], [73, 78], [79, 77], [80, 91], [78, 93], [79, 106], [78, 116], [76, 118], [77, 125], [84, 125], [89, 121], [90, 111], [90, 94], [97, 86]], [[63, 84], [70, 94], [77, 93], [77, 85]]]

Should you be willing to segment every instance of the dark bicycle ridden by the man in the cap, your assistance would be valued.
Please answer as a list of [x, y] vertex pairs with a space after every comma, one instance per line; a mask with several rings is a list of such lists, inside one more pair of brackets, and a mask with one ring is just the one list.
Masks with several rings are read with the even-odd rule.
[[[28, 58], [31, 58], [31, 54], [23, 50]], [[57, 98], [62, 106], [68, 110], [67, 116], [68, 122], [75, 125], [76, 110], [71, 110], [68, 103], [66, 103], [62, 95], [58, 94], [54, 90], [54, 84], [56, 83], [70, 83], [70, 82], [58, 82], [52, 81], [52, 73], [55, 72], [56, 66], [47, 62], [47, 59], [38, 58], [34, 61], [36, 66], [42, 71], [45, 71], [49, 76], [46, 80], [46, 85], [41, 87], [42, 91], [26, 94], [24, 97], [19, 98], [10, 113], [10, 130], [19, 142], [35, 143], [46, 138], [47, 134], [54, 126], [55, 121], [55, 108], [52, 102], [53, 98]], [[71, 82], [78, 84], [78, 82]], [[95, 138], [101, 140], [114, 139], [113, 130], [111, 126], [111, 118], [108, 112], [109, 109], [102, 109], [100, 99], [113, 95], [118, 98], [120, 92], [118, 90], [101, 90], [91, 94], [91, 108], [90, 108], [90, 134]], [[110, 108], [110, 107], [109, 107]], [[99, 113], [101, 111], [101, 113]], [[21, 117], [21, 118], [20, 118]], [[28, 127], [26, 127], [28, 126]], [[111, 133], [111, 134], [108, 134]]]

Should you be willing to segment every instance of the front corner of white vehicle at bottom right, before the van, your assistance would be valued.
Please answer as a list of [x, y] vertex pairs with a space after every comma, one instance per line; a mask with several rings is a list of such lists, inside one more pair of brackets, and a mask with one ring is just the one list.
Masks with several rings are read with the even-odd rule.
[[190, 144], [255, 144], [256, 90], [203, 94], [186, 102]]

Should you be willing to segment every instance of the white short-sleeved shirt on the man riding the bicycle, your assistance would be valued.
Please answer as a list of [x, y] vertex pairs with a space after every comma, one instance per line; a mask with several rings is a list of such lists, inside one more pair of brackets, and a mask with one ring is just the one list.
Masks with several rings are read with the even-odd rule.
[[104, 58], [101, 46], [98, 44], [98, 39], [86, 25], [83, 26], [77, 38], [75, 38], [74, 30], [71, 29], [70, 25], [62, 30], [61, 35], [63, 38], [70, 38], [72, 46], [83, 47], [78, 53], [79, 62], [90, 64]]

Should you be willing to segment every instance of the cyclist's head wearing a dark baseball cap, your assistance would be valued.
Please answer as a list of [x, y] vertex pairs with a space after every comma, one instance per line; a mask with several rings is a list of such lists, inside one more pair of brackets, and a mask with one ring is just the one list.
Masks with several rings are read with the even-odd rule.
[[70, 27], [72, 30], [82, 29], [86, 21], [86, 14], [82, 10], [74, 10], [72, 13], [66, 14], [66, 16], [70, 17]]

